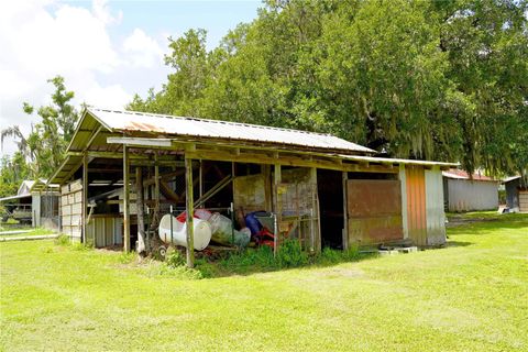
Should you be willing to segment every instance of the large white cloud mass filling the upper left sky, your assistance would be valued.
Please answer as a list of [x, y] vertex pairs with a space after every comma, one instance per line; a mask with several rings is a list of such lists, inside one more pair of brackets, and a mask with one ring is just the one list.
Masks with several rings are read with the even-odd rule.
[[[135, 29], [116, 43], [109, 26], [118, 28], [122, 12], [105, 0], [90, 8], [58, 0], [0, 3], [0, 129], [31, 129], [35, 118], [22, 102], [50, 102], [47, 79], [62, 75], [75, 91], [75, 102], [122, 108], [133, 92], [144, 92], [163, 79], [160, 43]], [[4, 153], [14, 150], [13, 144]]]

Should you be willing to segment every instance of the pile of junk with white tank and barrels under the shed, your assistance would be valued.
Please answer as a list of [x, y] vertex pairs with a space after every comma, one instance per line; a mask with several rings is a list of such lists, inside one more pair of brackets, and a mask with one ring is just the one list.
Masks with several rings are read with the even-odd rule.
[[[160, 222], [162, 241], [187, 246], [186, 220], [187, 213], [185, 211], [177, 217], [169, 213], [165, 215]], [[273, 215], [270, 212], [256, 211], [244, 215], [240, 210], [237, 213], [237, 224], [240, 230], [237, 230], [228, 217], [206, 209], [196, 209], [193, 221], [195, 229], [194, 248], [197, 251], [202, 251], [211, 241], [221, 245], [235, 245], [238, 248], [246, 248], [250, 242], [255, 245], [273, 248], [275, 235], [270, 230], [274, 227], [273, 221]]]

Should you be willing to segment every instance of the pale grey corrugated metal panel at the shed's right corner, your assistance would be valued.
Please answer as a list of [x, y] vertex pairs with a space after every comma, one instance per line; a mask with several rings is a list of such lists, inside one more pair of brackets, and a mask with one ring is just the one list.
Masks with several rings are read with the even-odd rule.
[[427, 245], [446, 243], [446, 215], [443, 211], [443, 180], [438, 167], [426, 170]]

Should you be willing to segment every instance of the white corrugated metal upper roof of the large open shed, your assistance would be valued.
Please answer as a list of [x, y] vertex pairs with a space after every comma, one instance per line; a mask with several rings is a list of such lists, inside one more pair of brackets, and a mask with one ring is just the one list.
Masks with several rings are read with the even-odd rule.
[[112, 132], [158, 132], [169, 135], [190, 138], [287, 144], [369, 154], [376, 153], [371, 148], [339, 139], [337, 136], [315, 132], [125, 110], [88, 108], [88, 112]]

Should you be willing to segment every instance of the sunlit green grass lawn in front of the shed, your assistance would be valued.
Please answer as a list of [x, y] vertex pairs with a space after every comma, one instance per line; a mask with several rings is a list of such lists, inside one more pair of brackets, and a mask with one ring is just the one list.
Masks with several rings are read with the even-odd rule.
[[0, 243], [7, 351], [528, 350], [528, 216], [450, 245], [331, 266], [186, 279], [119, 253]]

